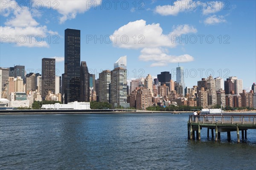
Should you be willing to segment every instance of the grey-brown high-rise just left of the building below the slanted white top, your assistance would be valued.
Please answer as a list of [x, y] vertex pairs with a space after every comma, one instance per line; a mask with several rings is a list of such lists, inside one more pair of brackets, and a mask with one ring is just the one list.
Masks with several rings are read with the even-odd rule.
[[105, 70], [99, 74], [99, 102], [111, 101], [111, 71]]

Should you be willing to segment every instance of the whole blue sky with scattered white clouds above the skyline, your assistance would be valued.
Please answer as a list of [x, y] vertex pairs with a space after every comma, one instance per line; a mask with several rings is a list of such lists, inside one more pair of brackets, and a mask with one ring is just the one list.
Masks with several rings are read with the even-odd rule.
[[256, 82], [256, 1], [0, 0], [0, 67], [41, 73], [42, 58], [64, 73], [64, 30], [81, 30], [91, 74], [127, 56], [128, 82], [183, 66], [186, 86], [236, 76]]

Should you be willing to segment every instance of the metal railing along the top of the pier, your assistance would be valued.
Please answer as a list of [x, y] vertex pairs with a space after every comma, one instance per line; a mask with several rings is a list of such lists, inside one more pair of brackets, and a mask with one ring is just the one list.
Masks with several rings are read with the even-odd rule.
[[256, 115], [189, 115], [189, 123], [256, 125]]

